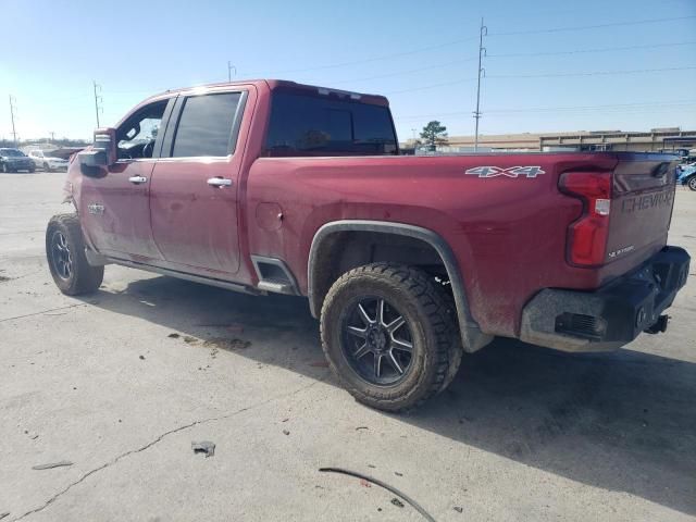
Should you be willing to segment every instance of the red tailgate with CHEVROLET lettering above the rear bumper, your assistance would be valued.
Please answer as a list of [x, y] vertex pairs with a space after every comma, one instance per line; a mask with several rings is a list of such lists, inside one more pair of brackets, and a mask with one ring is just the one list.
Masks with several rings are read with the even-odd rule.
[[607, 263], [636, 263], [667, 244], [674, 204], [676, 159], [667, 154], [618, 154], [613, 171]]

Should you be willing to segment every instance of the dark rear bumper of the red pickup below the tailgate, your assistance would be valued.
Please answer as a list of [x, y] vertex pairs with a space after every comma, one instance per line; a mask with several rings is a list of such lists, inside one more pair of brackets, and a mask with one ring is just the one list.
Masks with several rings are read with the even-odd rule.
[[546, 288], [522, 311], [520, 338], [566, 351], [604, 351], [655, 325], [686, 284], [689, 256], [664, 247], [635, 271], [595, 291]]

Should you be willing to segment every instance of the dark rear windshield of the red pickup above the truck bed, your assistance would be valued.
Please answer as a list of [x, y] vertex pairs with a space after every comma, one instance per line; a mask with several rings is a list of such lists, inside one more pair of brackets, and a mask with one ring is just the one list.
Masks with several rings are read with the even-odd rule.
[[265, 156], [396, 154], [389, 109], [275, 91]]

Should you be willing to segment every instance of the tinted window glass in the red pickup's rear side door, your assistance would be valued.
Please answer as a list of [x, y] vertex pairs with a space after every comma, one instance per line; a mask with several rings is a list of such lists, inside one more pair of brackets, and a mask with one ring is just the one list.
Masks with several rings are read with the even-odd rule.
[[174, 136], [173, 158], [227, 156], [232, 126], [241, 94], [194, 96], [186, 99]]

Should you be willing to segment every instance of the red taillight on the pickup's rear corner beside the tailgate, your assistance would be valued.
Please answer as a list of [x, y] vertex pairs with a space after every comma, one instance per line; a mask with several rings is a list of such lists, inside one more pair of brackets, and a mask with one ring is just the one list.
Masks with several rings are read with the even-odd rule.
[[611, 210], [610, 172], [567, 172], [561, 191], [584, 202], [583, 215], [568, 228], [568, 260], [581, 266], [604, 264]]

